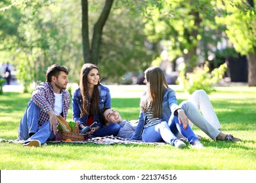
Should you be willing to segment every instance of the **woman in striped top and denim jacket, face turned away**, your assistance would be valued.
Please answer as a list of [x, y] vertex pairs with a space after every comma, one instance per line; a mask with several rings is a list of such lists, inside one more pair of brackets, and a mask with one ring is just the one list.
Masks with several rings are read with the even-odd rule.
[[[142, 141], [165, 141], [177, 148], [184, 148], [186, 144], [175, 136], [179, 132], [186, 137], [193, 147], [203, 148], [188, 124], [181, 124], [179, 121], [173, 120], [173, 123], [168, 125], [171, 110], [177, 111], [180, 109], [174, 91], [168, 87], [161, 68], [148, 68], [145, 71], [144, 83], [147, 90], [140, 100], [140, 119], [135, 132], [137, 135], [140, 133]], [[169, 113], [169, 115], [166, 115], [166, 113]], [[143, 130], [141, 131], [141, 129]], [[133, 137], [135, 136], [136, 134]]]

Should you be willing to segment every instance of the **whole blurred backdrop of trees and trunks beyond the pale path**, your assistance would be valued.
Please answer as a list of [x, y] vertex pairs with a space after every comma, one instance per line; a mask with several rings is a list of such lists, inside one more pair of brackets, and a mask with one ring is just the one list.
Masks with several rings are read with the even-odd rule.
[[83, 63], [95, 63], [103, 84], [143, 84], [144, 70], [160, 66], [184, 90], [256, 86], [254, 0], [4, 0], [0, 35], [2, 85], [24, 92], [53, 63], [75, 84]]

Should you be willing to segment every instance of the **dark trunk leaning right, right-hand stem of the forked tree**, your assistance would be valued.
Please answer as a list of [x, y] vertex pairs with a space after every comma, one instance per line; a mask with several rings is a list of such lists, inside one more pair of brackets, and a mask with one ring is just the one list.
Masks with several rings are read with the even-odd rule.
[[110, 14], [114, 0], [106, 0], [104, 8], [93, 28], [93, 41], [91, 46], [91, 62], [98, 64], [100, 59], [100, 43], [102, 39], [102, 30]]

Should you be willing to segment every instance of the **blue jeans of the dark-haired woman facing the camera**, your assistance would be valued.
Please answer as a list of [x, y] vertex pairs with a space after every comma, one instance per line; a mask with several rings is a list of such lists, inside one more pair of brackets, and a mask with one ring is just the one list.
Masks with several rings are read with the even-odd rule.
[[119, 124], [111, 124], [106, 127], [102, 127], [98, 129], [97, 131], [95, 131], [95, 133], [93, 133], [93, 135], [91, 135], [91, 137], [105, 137], [110, 135], [117, 136], [119, 129], [120, 129]]

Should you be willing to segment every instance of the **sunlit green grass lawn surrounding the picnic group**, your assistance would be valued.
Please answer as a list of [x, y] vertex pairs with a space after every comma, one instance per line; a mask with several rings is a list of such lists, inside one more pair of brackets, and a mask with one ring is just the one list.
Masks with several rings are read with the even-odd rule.
[[[177, 91], [179, 103], [186, 95]], [[121, 92], [121, 91], [119, 91]], [[256, 169], [256, 88], [217, 87], [209, 95], [219, 116], [224, 133], [243, 139], [242, 142], [212, 141], [202, 135], [205, 148], [194, 150], [188, 146], [179, 150], [168, 144], [51, 144], [41, 148], [22, 144], [0, 143], [1, 170], [167, 170], [167, 169]], [[18, 124], [30, 99], [30, 94], [5, 92], [0, 95], [0, 138], [17, 139]], [[112, 107], [127, 120], [139, 116], [139, 96], [115, 98]], [[72, 120], [72, 109], [68, 112]]]

